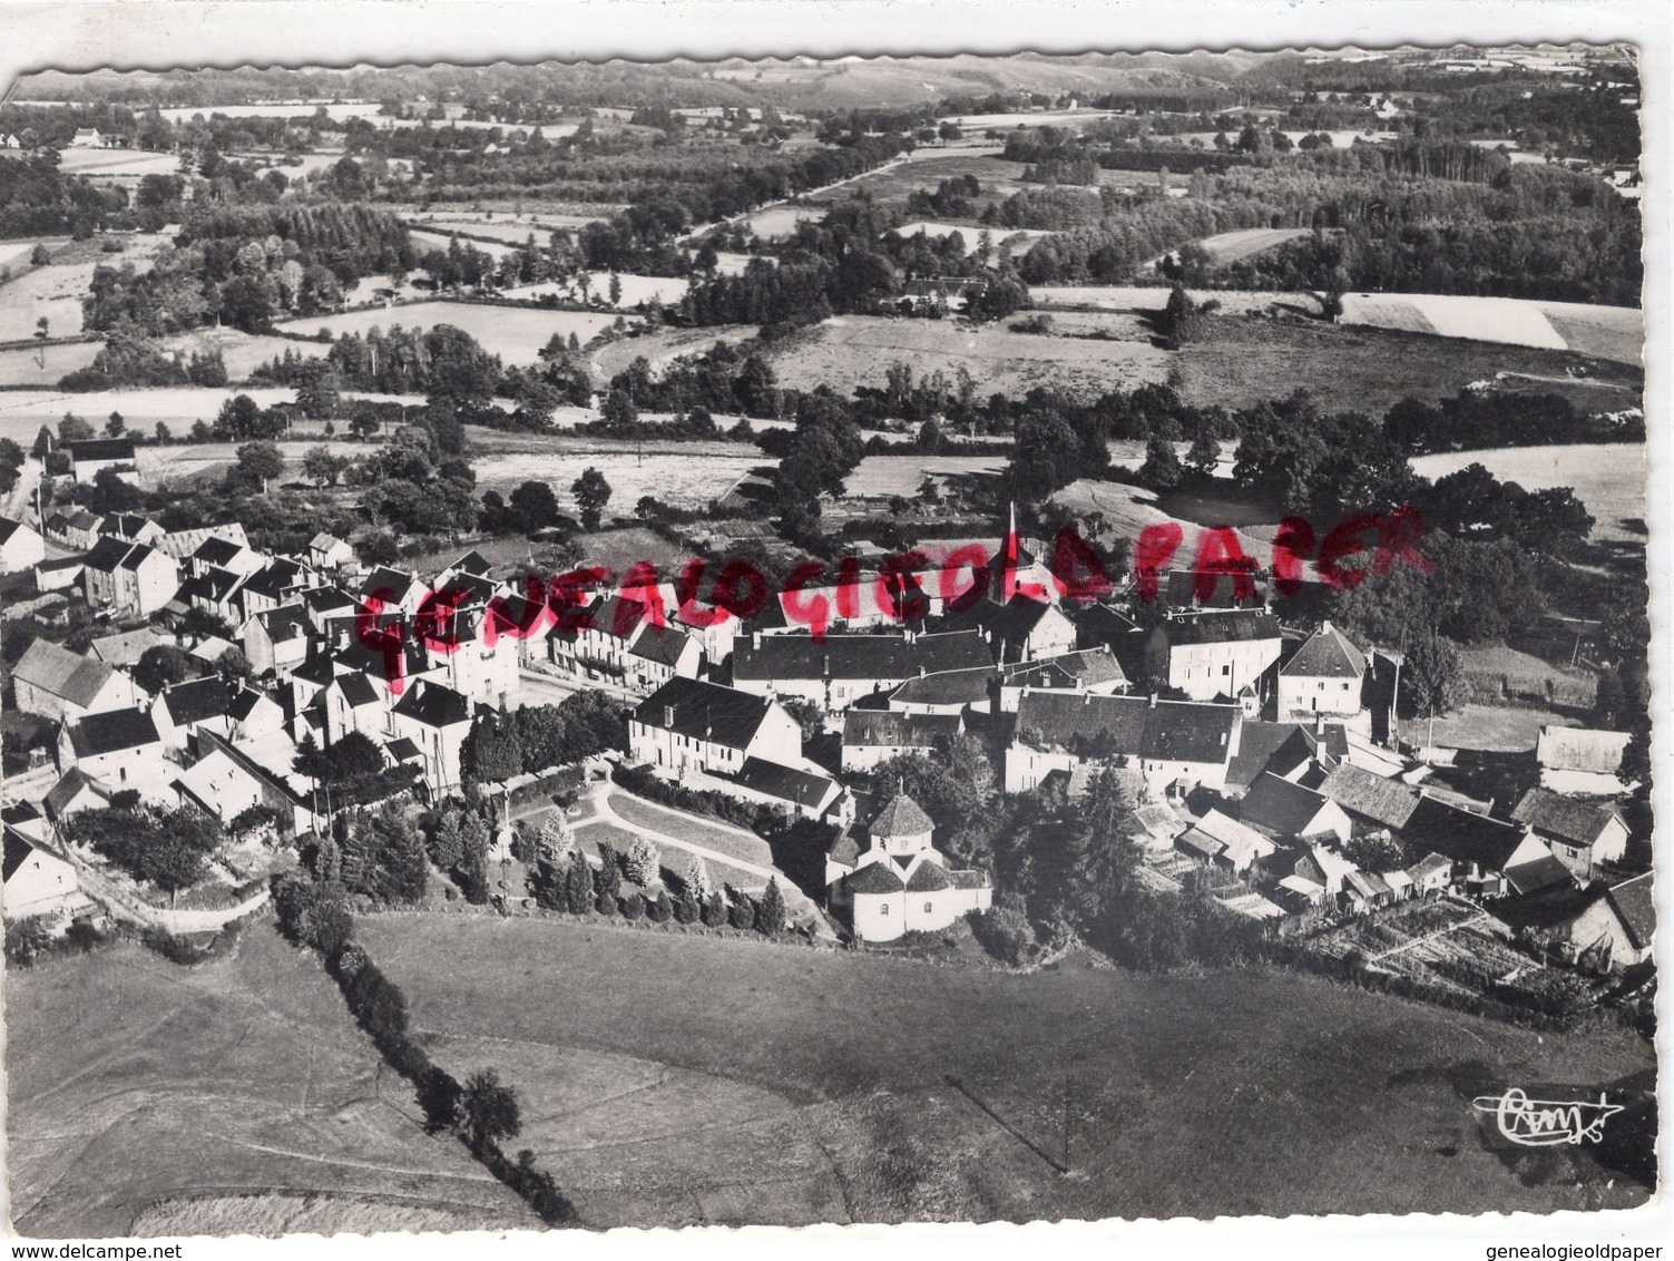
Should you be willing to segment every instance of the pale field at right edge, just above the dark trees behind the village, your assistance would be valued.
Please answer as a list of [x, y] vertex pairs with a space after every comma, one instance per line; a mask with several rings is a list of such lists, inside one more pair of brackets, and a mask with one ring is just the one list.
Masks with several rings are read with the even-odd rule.
[[1450, 450], [1413, 461], [1425, 477], [1445, 477], [1468, 464], [1481, 464], [1502, 481], [1525, 491], [1569, 486], [1587, 504], [1595, 524], [1592, 538], [1609, 543], [1646, 539], [1646, 447], [1637, 442], [1599, 442], [1567, 447], [1508, 447], [1502, 450]]

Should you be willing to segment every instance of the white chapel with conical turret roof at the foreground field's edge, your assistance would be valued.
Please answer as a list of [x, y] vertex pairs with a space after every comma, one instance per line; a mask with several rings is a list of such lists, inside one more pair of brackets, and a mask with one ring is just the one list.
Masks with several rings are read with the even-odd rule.
[[827, 903], [847, 914], [857, 938], [894, 941], [904, 933], [937, 933], [991, 904], [988, 878], [949, 869], [931, 844], [934, 829], [919, 804], [897, 792], [867, 822], [864, 849], [852, 841], [850, 847], [827, 851]]

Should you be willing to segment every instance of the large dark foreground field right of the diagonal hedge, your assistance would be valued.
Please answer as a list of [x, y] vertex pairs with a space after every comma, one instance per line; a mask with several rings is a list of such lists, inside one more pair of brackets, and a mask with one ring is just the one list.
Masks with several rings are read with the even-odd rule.
[[[482, 916], [372, 918], [360, 936], [442, 1063], [516, 1085], [539, 1117], [519, 1142], [589, 1226], [1550, 1212], [1647, 1196], [1590, 1150], [1507, 1167], [1468, 1102], [1488, 1077], [1649, 1072], [1651, 1048], [1622, 1033], [1537, 1040], [1264, 971], [1013, 976]], [[1066, 1087], [1070, 1177], [1041, 1155], [1063, 1154]]]

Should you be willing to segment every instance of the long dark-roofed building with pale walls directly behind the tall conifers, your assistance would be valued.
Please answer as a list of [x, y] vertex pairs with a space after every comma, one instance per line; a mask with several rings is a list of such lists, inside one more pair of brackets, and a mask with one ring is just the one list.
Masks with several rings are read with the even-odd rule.
[[1030, 692], [1009, 720], [1006, 792], [1028, 792], [1081, 762], [1135, 767], [1150, 792], [1175, 784], [1219, 789], [1237, 755], [1242, 713], [1232, 705], [1155, 697]]

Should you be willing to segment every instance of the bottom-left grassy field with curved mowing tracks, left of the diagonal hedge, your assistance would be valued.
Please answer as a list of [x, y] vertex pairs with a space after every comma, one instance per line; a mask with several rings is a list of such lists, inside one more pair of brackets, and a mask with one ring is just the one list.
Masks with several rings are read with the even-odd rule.
[[534, 1224], [424, 1134], [336, 986], [268, 924], [199, 968], [136, 946], [12, 968], [5, 1023], [25, 1236]]

